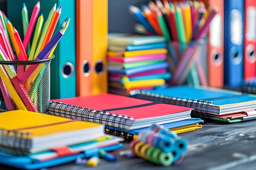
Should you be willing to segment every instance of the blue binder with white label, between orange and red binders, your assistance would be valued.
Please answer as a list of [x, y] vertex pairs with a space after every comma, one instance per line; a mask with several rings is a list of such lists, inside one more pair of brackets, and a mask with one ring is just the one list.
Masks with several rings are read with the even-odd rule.
[[243, 81], [244, 1], [224, 1], [224, 83], [234, 87]]

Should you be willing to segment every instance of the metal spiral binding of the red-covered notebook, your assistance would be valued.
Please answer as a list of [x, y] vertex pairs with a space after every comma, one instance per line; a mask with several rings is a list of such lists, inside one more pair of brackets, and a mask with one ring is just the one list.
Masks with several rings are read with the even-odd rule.
[[118, 128], [125, 128], [128, 126], [127, 121], [134, 119], [128, 115], [117, 115], [104, 110], [95, 110], [53, 101], [48, 104], [48, 114], [106, 124]]

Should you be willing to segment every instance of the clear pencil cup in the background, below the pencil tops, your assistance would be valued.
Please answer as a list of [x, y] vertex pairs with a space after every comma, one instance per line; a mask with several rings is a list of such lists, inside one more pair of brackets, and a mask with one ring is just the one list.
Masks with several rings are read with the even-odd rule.
[[192, 84], [207, 85], [207, 40], [170, 42], [168, 61], [172, 73], [170, 86]]

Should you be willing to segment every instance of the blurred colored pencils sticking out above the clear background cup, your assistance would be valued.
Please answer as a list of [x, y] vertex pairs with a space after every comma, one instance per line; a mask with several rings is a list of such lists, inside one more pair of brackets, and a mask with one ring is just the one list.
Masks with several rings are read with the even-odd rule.
[[149, 1], [140, 8], [129, 5], [128, 9], [139, 22], [135, 25], [137, 33], [163, 35], [166, 41], [180, 42], [201, 39], [218, 12], [197, 0], [155, 0], [155, 3]]

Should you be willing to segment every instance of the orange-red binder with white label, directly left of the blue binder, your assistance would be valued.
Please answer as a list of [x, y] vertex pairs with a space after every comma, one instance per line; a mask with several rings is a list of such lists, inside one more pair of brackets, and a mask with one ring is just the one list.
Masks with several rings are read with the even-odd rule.
[[209, 86], [221, 88], [224, 85], [224, 0], [202, 0], [206, 7], [218, 7], [209, 26], [208, 33], [208, 82]]

